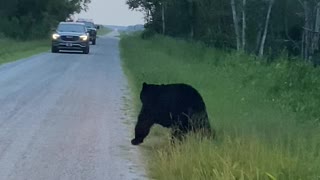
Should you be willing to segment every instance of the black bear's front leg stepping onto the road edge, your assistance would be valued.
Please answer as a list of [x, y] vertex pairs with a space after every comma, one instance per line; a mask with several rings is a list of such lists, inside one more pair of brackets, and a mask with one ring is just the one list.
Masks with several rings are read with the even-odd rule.
[[148, 120], [143, 113], [140, 113], [138, 117], [138, 122], [134, 129], [135, 138], [131, 140], [131, 144], [139, 145], [143, 143], [143, 140], [145, 137], [148, 136], [152, 125], [153, 125], [153, 122], [151, 120]]

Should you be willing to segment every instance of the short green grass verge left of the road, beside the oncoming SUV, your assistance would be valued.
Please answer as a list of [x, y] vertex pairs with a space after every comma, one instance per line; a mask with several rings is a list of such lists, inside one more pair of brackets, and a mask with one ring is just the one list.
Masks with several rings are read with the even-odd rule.
[[48, 51], [49, 40], [17, 41], [0, 39], [0, 64]]

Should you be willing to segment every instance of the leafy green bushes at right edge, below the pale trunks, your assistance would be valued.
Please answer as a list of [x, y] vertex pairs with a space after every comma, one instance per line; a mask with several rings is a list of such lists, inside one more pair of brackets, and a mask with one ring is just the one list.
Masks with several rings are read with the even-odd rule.
[[320, 123], [319, 68], [303, 61], [279, 58], [271, 64], [256, 63], [249, 71], [244, 71], [248, 72], [244, 77], [245, 84], [263, 87], [269, 100], [284, 109], [289, 108], [298, 122]]

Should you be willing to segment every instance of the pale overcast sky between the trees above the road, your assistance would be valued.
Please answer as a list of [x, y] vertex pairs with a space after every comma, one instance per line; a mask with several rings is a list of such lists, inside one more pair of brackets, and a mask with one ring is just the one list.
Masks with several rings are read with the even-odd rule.
[[75, 17], [93, 19], [95, 23], [104, 25], [144, 24], [143, 14], [129, 10], [126, 0], [91, 0], [87, 12]]

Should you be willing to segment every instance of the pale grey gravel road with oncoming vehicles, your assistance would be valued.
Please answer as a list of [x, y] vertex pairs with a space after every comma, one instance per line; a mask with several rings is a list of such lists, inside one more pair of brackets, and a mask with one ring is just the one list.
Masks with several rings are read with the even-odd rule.
[[0, 66], [1, 180], [145, 179], [116, 35]]

